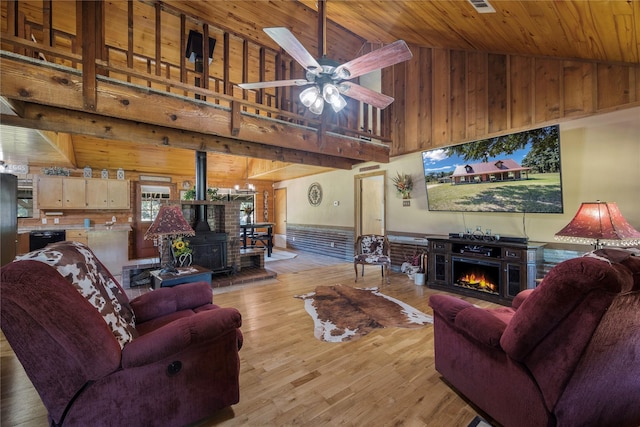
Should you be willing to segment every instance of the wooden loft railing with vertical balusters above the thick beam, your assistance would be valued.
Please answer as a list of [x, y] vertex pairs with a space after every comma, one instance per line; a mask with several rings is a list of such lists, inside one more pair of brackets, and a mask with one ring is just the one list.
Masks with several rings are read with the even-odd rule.
[[[175, 9], [166, 8], [159, 2], [140, 1], [139, 4], [143, 7], [154, 7], [156, 14], [169, 13], [174, 17], [177, 16], [181, 22], [180, 27], [183, 30], [180, 35], [182, 46], [184, 46], [186, 33], [188, 33], [186, 30], [187, 23], [191, 24], [192, 27], [193, 22], [198, 23], [199, 27], [196, 27], [196, 29], [201, 30], [204, 34], [215, 33], [216, 37], [222, 34], [222, 43], [218, 44], [223, 45], [220, 48], [223, 53], [216, 54], [216, 57], [219, 58], [217, 60], [223, 61], [222, 76], [216, 75], [216, 73], [219, 74], [219, 70], [211, 72], [212, 70], [207, 66], [208, 64], [203, 67], [204, 70], [202, 72], [197, 71], [193, 64], [185, 60], [184, 55], [180, 55], [179, 61], [174, 60], [174, 62], [163, 59], [165, 56], [162, 52], [162, 43], [158, 41], [154, 43], [155, 57], [135, 52], [133, 48], [135, 44], [133, 39], [133, 19], [129, 19], [127, 24], [128, 34], [126, 39], [128, 40], [128, 46], [126, 49], [108, 44], [104, 40], [99, 40], [100, 35], [98, 35], [95, 37], [95, 48], [88, 51], [89, 56], [95, 56], [95, 58], [87, 56], [86, 48], [85, 55], [82, 55], [80, 54], [82, 52], [82, 39], [84, 38], [86, 41], [88, 37], [92, 37], [96, 33], [96, 31], [92, 32], [93, 23], [89, 25], [85, 22], [83, 25], [82, 20], [86, 19], [95, 22], [91, 19], [95, 17], [104, 22], [104, 10], [100, 11], [96, 6], [101, 2], [75, 3], [76, 15], [80, 15], [81, 19], [78, 20], [72, 17], [67, 21], [73, 20], [75, 22], [78, 27], [76, 28], [76, 34], [80, 34], [80, 37], [68, 30], [59, 28], [61, 26], [59, 19], [56, 21], [58, 27], [53, 24], [51, 16], [58, 4], [62, 3], [67, 2], [45, 1], [43, 2], [41, 14], [39, 14], [33, 10], [28, 11], [28, 13], [23, 11], [22, 8], [26, 9], [26, 6], [23, 6], [20, 1], [2, 2], [2, 7], [6, 9], [2, 11], [2, 17], [7, 20], [2, 27], [6, 28], [7, 32], [2, 33], [1, 47], [2, 50], [19, 55], [39, 58], [43, 61], [83, 71], [83, 83], [87, 86], [83, 90], [85, 90], [87, 97], [91, 96], [91, 87], [96, 87], [98, 76], [106, 76], [133, 85], [153, 88], [157, 91], [205, 100], [223, 107], [231, 108], [232, 104], [236, 103], [240, 105], [240, 109], [243, 112], [282, 120], [287, 123], [316, 129], [322, 128], [324, 131], [355, 138], [389, 142], [389, 139], [386, 138], [385, 127], [381, 123], [383, 115], [378, 109], [365, 103], [349, 99], [349, 108], [345, 109], [345, 111], [349, 110], [350, 113], [330, 113], [328, 117], [324, 117], [321, 120], [317, 116], [309, 116], [308, 110], [298, 100], [298, 93], [294, 88], [261, 89], [258, 91], [241, 89], [237, 85], [242, 82], [232, 81], [229, 73], [229, 63], [232, 58], [229, 53], [228, 38], [231, 33], [202, 22], [199, 18], [187, 16]], [[91, 6], [87, 7], [86, 4]], [[29, 7], [32, 8], [33, 3], [30, 3]], [[128, 8], [129, 16], [132, 18], [133, 7], [131, 2], [128, 2]], [[41, 21], [35, 20], [34, 16], [41, 17]], [[156, 19], [156, 34], [162, 34], [161, 22], [161, 19]], [[110, 34], [113, 31], [111, 27], [107, 26], [105, 28], [104, 33], [106, 36], [104, 39], [116, 38], [117, 35]], [[157, 38], [160, 37], [158, 36]], [[233, 37], [237, 39], [239, 36], [233, 34]], [[254, 49], [260, 50], [259, 68], [261, 70], [266, 68], [266, 57], [273, 58], [273, 62], [270, 65], [275, 65], [276, 71], [274, 78], [268, 78], [268, 80], [300, 78], [301, 74], [304, 73], [304, 70], [295, 61], [288, 59], [288, 57], [285, 60], [284, 54], [275, 52], [265, 46], [256, 45], [248, 40], [242, 40], [242, 43], [244, 46], [252, 44]], [[216, 49], [218, 49], [217, 46]], [[183, 49], [179, 50], [183, 52]], [[246, 50], [246, 47], [243, 48], [243, 51], [246, 52]], [[268, 53], [265, 54], [264, 52]], [[234, 64], [238, 62], [236, 59], [234, 58]], [[246, 70], [250, 67], [248, 55], [243, 54], [240, 62], [243, 69], [242, 75], [246, 78], [248, 75]], [[261, 74], [264, 73], [262, 72]], [[196, 85], [197, 81], [200, 82], [200, 85]]]

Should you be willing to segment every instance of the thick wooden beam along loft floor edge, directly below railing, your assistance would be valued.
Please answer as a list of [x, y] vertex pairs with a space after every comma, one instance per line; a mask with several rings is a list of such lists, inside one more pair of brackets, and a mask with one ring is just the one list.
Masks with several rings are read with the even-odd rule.
[[[86, 111], [82, 75], [79, 72], [8, 55], [3, 55], [2, 60], [1, 96], [62, 109]], [[386, 144], [370, 143], [333, 133], [322, 134], [322, 131], [313, 128], [262, 115], [241, 114], [236, 117], [238, 120], [232, 121], [231, 108], [127, 83], [100, 79], [96, 86], [95, 112], [102, 116], [172, 128], [180, 132], [197, 129], [198, 132], [194, 133], [203, 136], [209, 134], [211, 139], [218, 140], [234, 136], [237, 132], [237, 144], [244, 141], [271, 146], [272, 152], [284, 152], [288, 149], [291, 153], [300, 150], [318, 154], [319, 157], [324, 155], [328, 158], [345, 158], [345, 162], [339, 162], [342, 165], [366, 161], [389, 162], [389, 146]], [[243, 101], [238, 99], [231, 102]], [[122, 140], [129, 138], [124, 136]], [[320, 140], [322, 144], [319, 143]]]

